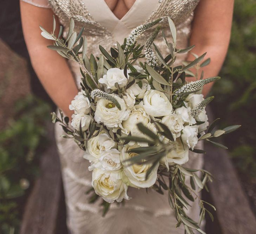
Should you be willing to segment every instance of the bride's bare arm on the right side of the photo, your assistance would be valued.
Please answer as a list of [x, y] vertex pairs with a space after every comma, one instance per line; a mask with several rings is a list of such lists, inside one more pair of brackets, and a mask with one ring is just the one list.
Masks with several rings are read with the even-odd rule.
[[[211, 63], [203, 69], [204, 78], [217, 76], [223, 65], [230, 40], [233, 6], [234, 0], [201, 0], [196, 8], [190, 45], [196, 45], [192, 53], [207, 52], [205, 58], [211, 58]], [[195, 57], [189, 54], [187, 59]], [[211, 86], [212, 83], [204, 86], [204, 95]]]

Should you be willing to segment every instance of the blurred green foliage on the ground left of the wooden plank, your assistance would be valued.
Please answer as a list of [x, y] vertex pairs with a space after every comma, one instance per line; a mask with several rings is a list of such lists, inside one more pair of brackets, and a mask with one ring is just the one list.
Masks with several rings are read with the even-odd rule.
[[28, 96], [0, 131], [0, 233], [18, 232], [26, 191], [38, 175], [37, 150], [44, 143], [49, 111], [47, 104]]

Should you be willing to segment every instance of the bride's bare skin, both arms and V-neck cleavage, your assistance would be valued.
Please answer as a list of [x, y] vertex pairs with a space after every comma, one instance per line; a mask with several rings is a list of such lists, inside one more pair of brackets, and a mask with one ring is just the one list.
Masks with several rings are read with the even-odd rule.
[[[107, 5], [121, 19], [131, 8], [135, 0], [105, 0]], [[190, 45], [196, 45], [192, 50], [198, 55], [207, 52], [205, 58], [211, 58], [209, 66], [204, 68], [204, 77], [216, 76], [221, 69], [227, 53], [234, 0], [201, 0], [195, 11], [192, 24]], [[47, 31], [52, 31], [51, 9], [40, 8], [20, 2], [21, 20], [28, 52], [35, 72], [42, 85], [56, 105], [71, 117], [68, 109], [74, 96], [78, 93], [70, 68], [67, 62], [55, 51], [46, 49], [49, 40], [41, 36], [39, 25]], [[57, 19], [57, 17], [55, 17]], [[56, 29], [59, 22], [56, 22]], [[58, 34], [58, 30], [55, 32]], [[193, 60], [188, 55], [188, 60]], [[212, 84], [203, 89], [206, 95]]]

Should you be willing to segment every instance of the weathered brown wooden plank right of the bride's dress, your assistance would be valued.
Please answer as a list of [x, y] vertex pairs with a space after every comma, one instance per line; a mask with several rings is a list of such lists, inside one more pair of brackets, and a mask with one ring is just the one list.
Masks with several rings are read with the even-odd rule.
[[214, 181], [208, 186], [222, 233], [256, 233], [255, 216], [229, 158], [228, 150], [205, 143], [205, 151], [205, 169], [214, 175]]

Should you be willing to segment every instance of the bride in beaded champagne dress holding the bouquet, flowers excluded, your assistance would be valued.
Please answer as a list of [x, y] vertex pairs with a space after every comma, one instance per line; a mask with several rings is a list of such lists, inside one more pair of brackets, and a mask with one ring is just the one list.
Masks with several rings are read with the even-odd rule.
[[[21, 0], [21, 18], [24, 36], [32, 65], [52, 100], [71, 117], [68, 106], [78, 93], [79, 67], [67, 62], [56, 52], [47, 49], [49, 41], [43, 38], [39, 25], [51, 32], [52, 15], [58, 17], [56, 28], [64, 26], [67, 35], [71, 18], [77, 32], [84, 27], [88, 42], [87, 53], [99, 54], [98, 45], [105, 48], [121, 44], [130, 31], [146, 22], [170, 16], [177, 27], [177, 47], [196, 45], [193, 53], [208, 52], [211, 63], [204, 69], [204, 77], [216, 76], [221, 69], [230, 38], [234, 0]], [[55, 16], [55, 18], [56, 18]], [[163, 28], [168, 24], [162, 23]], [[168, 33], [168, 30], [166, 30]], [[58, 34], [58, 32], [57, 32]], [[169, 35], [170, 36], [170, 35]], [[146, 38], [146, 36], [144, 37]], [[140, 39], [143, 41], [143, 36]], [[155, 44], [164, 54], [160, 38]], [[182, 54], [177, 62], [193, 60], [193, 54]], [[203, 94], [210, 90], [206, 85]], [[63, 139], [60, 126], [55, 133], [67, 206], [67, 226], [70, 233], [184, 233], [176, 229], [176, 220], [168, 205], [167, 195], [149, 189], [130, 189], [132, 199], [124, 205], [111, 208], [101, 216], [100, 201], [89, 203], [86, 191], [91, 187], [91, 173], [83, 152], [72, 139]], [[69, 140], [69, 141], [68, 141]], [[190, 167], [202, 168], [200, 155], [190, 154]], [[195, 202], [196, 203], [196, 202]], [[190, 207], [189, 216], [198, 219], [197, 204]]]

